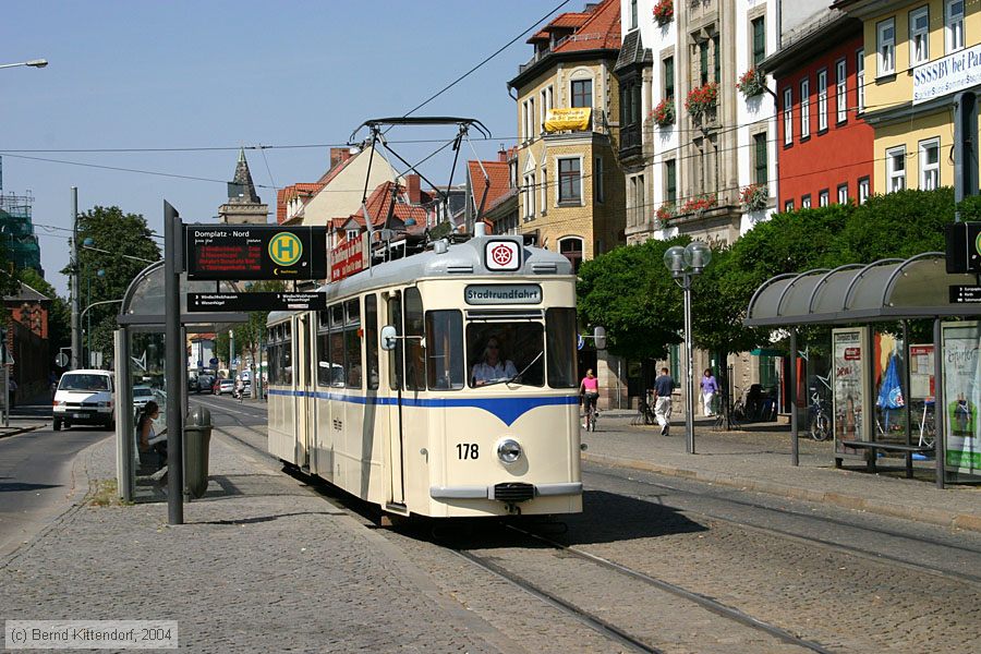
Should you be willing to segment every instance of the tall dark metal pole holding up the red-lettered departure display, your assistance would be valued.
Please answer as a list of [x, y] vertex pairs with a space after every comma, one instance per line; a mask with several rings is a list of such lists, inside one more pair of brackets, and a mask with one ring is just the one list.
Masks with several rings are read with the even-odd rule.
[[167, 346], [165, 356], [165, 379], [167, 385], [167, 520], [170, 524], [184, 523], [184, 467], [183, 467], [183, 396], [181, 386], [184, 375], [181, 365], [184, 346], [181, 340], [181, 218], [170, 203], [164, 201], [164, 339]]

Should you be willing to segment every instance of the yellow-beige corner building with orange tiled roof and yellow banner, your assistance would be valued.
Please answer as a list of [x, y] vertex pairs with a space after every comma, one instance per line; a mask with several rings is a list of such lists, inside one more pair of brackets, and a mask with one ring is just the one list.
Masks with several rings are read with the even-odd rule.
[[615, 143], [620, 3], [560, 14], [529, 43], [534, 57], [508, 83], [518, 96], [519, 229], [578, 269], [626, 243]]

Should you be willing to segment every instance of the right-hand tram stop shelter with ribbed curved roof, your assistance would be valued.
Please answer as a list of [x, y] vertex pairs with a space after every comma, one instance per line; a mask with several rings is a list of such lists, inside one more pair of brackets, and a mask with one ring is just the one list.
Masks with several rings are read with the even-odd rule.
[[[834, 269], [813, 269], [800, 274], [778, 275], [768, 279], [750, 300], [743, 324], [749, 327], [773, 327], [790, 330], [790, 351], [795, 362], [790, 365], [790, 401], [792, 464], [798, 464], [798, 387], [796, 353], [797, 327], [806, 325], [853, 326], [864, 325], [871, 330], [872, 323], [903, 322], [908, 334], [909, 319], [932, 318], [936, 421], [936, 439], [932, 453], [936, 457], [936, 486], [944, 487], [946, 461], [946, 411], [944, 403], [942, 320], [944, 318], [981, 317], [981, 304], [952, 302], [948, 289], [956, 286], [977, 287], [978, 276], [972, 274], [950, 274], [946, 271], [943, 253], [927, 252], [907, 259], [887, 258], [868, 265], [849, 264]], [[908, 336], [904, 346], [909, 349]], [[868, 354], [862, 353], [868, 358]], [[907, 358], [908, 360], [908, 358]], [[912, 455], [927, 448], [911, 443], [909, 411], [907, 411], [906, 444], [887, 444], [875, 440], [870, 419], [874, 415], [875, 392], [868, 388], [861, 393], [861, 416], [867, 428], [861, 431], [863, 439], [845, 440], [838, 438], [835, 428], [835, 460], [864, 456], [870, 468], [874, 468], [879, 451], [899, 451], [906, 455], [907, 476], [912, 475]], [[835, 415], [834, 420], [839, 420]]]

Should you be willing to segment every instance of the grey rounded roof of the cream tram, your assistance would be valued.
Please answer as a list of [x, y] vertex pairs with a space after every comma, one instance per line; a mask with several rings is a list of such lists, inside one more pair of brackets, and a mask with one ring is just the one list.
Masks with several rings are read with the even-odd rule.
[[[521, 247], [521, 267], [517, 270], [491, 270], [484, 264], [485, 246], [489, 242], [509, 241]], [[438, 242], [437, 242], [438, 243]], [[318, 291], [327, 293], [327, 302], [347, 298], [382, 287], [398, 286], [414, 279], [434, 277], [509, 277], [572, 275], [572, 264], [564, 255], [543, 247], [524, 245], [521, 237], [474, 237], [463, 243], [451, 243], [445, 252], [431, 247], [362, 270], [340, 281], [322, 286]], [[272, 312], [269, 322], [275, 322], [294, 312]]]

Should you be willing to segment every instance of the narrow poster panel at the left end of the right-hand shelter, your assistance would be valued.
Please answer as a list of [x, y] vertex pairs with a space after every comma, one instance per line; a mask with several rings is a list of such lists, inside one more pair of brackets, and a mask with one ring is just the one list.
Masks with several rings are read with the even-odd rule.
[[836, 453], [859, 455], [858, 449], [847, 447], [843, 441], [869, 439], [862, 415], [868, 368], [864, 334], [863, 328], [832, 331]]

